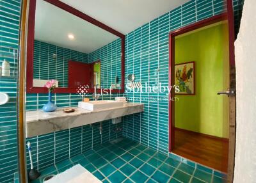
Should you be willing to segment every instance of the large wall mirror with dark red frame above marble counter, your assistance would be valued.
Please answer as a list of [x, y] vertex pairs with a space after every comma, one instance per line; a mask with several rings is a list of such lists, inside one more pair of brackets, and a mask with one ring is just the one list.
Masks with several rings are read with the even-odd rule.
[[29, 4], [27, 92], [46, 93], [55, 79], [56, 93], [79, 86], [124, 92], [125, 36], [61, 1]]

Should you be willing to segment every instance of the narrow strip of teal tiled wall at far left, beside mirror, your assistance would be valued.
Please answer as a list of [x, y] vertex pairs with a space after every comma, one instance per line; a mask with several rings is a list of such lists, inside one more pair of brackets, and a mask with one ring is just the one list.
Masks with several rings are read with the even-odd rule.
[[[0, 106], [0, 182], [13, 182], [17, 171], [17, 54], [19, 47], [20, 1], [0, 2], [0, 65], [10, 62], [14, 77], [0, 77], [0, 92], [8, 93], [10, 100]], [[16, 51], [17, 52], [17, 51]]]

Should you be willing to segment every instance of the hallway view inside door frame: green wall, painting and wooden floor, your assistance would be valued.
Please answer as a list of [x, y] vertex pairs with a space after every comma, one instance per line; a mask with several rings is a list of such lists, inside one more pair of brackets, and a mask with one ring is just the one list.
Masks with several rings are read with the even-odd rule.
[[175, 37], [175, 141], [173, 152], [227, 172], [228, 26], [217, 22]]

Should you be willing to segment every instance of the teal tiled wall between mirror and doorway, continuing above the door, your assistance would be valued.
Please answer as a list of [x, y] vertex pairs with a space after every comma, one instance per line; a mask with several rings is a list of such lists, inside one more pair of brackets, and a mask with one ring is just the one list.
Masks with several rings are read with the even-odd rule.
[[[234, 0], [236, 26], [243, 0]], [[191, 0], [125, 36], [125, 78], [135, 74], [135, 82], [168, 86], [168, 33], [225, 12], [223, 0]], [[127, 81], [125, 80], [125, 84]], [[168, 91], [125, 92], [130, 102], [144, 104], [144, 112], [124, 117], [123, 136], [168, 153]]]

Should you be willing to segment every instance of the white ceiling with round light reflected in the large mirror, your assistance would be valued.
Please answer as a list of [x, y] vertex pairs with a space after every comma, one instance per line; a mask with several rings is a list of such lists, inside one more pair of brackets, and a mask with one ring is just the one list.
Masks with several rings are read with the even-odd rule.
[[[74, 35], [70, 40], [68, 35]], [[90, 53], [118, 36], [43, 0], [36, 1], [35, 40]]]

